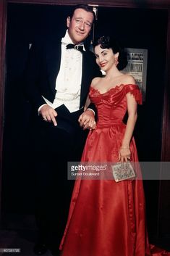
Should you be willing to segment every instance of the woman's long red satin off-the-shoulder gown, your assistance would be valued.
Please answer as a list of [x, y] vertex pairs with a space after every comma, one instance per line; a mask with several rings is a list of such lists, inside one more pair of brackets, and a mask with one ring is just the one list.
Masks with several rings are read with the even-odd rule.
[[[88, 135], [82, 162], [118, 160], [125, 130], [122, 120], [127, 112], [127, 93], [142, 103], [136, 85], [116, 86], [105, 94], [90, 87], [90, 100], [98, 109], [98, 124]], [[130, 150], [132, 161], [137, 162], [133, 138]], [[119, 183], [77, 179], [60, 249], [61, 256], [170, 256], [170, 252], [160, 252], [156, 247], [151, 248], [155, 253], [150, 252], [140, 179]]]

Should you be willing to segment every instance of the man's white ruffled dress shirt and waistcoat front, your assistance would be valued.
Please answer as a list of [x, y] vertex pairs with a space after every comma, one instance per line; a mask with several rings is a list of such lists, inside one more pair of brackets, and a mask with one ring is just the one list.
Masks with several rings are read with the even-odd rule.
[[[69, 112], [75, 112], [80, 109], [82, 53], [76, 49], [66, 49], [67, 44], [73, 44], [68, 30], [64, 38], [61, 38], [61, 64], [56, 78], [54, 102], [49, 102], [44, 96], [43, 99], [54, 109], [64, 104]], [[79, 45], [83, 46], [83, 44]], [[38, 110], [41, 110], [41, 107]]]

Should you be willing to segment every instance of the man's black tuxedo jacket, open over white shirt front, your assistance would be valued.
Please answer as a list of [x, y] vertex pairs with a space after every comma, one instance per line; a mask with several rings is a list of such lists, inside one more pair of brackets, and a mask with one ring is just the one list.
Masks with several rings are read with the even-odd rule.
[[[42, 96], [54, 102], [60, 62], [61, 38], [43, 44], [39, 41], [39, 44], [32, 45], [25, 72], [25, 91], [35, 110], [46, 103]], [[91, 51], [83, 51], [80, 108], [85, 104], [91, 80], [96, 76], [101, 76], [101, 72], [95, 63], [94, 54]]]

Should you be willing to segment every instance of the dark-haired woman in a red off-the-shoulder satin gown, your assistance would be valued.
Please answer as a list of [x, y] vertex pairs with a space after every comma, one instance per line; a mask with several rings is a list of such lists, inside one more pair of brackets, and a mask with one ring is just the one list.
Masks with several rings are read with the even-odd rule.
[[[98, 110], [98, 121], [88, 135], [82, 162], [138, 162], [132, 134], [137, 103], [142, 103], [140, 90], [131, 75], [119, 71], [122, 51], [115, 41], [103, 36], [95, 43], [94, 51], [98, 66], [106, 75], [94, 78], [90, 86], [89, 99]], [[140, 170], [136, 171], [140, 176]], [[152, 255], [145, 227], [141, 178], [118, 183], [111, 179], [77, 179], [61, 255]]]

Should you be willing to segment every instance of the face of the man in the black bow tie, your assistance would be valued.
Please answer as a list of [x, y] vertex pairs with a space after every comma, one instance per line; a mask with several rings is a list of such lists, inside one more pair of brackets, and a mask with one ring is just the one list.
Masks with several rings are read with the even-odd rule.
[[74, 44], [80, 44], [88, 37], [93, 25], [93, 13], [84, 9], [75, 9], [72, 19], [67, 17], [67, 28], [69, 36]]

